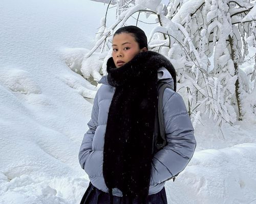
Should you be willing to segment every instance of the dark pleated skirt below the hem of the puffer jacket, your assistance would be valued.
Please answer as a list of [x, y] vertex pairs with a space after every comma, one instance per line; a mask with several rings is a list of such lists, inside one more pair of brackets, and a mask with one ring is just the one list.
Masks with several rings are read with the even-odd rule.
[[[126, 197], [113, 196], [113, 204], [127, 204], [129, 200]], [[89, 186], [84, 193], [80, 204], [110, 204], [110, 195], [105, 193], [95, 186], [92, 183], [89, 183]], [[141, 204], [133, 200], [133, 204]], [[147, 204], [167, 204], [167, 198], [165, 193], [165, 188], [159, 191], [156, 194], [151, 194], [147, 196]]]

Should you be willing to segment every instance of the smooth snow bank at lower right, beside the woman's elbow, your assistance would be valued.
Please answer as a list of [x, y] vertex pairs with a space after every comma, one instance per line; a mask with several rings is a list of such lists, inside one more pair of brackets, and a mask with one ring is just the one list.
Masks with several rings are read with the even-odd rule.
[[256, 203], [255, 151], [255, 143], [243, 143], [195, 152], [186, 170], [167, 184], [170, 203]]

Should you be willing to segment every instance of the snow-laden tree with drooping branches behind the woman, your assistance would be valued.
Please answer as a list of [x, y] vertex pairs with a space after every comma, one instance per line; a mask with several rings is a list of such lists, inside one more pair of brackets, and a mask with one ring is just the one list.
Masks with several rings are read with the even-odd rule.
[[203, 113], [219, 125], [223, 120], [232, 124], [256, 106], [256, 99], [249, 105], [243, 102], [255, 93], [255, 65], [248, 74], [240, 68], [248, 45], [256, 47], [254, 4], [245, 0], [173, 0], [166, 5], [161, 0], [120, 0], [115, 7], [116, 22], [106, 27], [107, 15], [102, 18], [97, 42], [83, 61], [94, 53], [104, 54], [102, 71], [106, 74], [114, 32], [131, 16], [138, 21], [141, 13], [153, 15], [158, 24], [148, 36], [149, 48], [166, 56], [176, 68], [177, 90], [185, 95], [194, 126]]

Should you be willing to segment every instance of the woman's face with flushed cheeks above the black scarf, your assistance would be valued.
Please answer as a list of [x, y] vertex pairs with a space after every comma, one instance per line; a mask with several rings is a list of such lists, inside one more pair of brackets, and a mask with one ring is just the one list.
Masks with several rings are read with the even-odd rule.
[[117, 68], [132, 60], [138, 53], [146, 51], [146, 47], [139, 48], [138, 42], [130, 33], [116, 34], [112, 40], [112, 48], [112, 57]]

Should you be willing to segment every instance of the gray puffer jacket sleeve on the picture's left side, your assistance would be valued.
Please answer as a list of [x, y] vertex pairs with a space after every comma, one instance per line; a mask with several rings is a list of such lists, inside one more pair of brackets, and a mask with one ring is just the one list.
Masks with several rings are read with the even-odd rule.
[[98, 114], [99, 114], [98, 92], [99, 91], [97, 91], [94, 98], [91, 119], [87, 123], [89, 129], [86, 132], [86, 134], [84, 134], [83, 136], [82, 144], [78, 154], [79, 163], [82, 169], [84, 169], [84, 165], [86, 164], [86, 161], [90, 156], [90, 153], [93, 151], [92, 142], [93, 142], [93, 137], [95, 134], [96, 127], [98, 126]]

